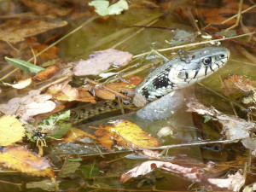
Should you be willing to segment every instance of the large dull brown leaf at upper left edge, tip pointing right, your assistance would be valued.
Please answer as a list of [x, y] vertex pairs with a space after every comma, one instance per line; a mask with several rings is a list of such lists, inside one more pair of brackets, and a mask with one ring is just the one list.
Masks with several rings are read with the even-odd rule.
[[8, 20], [0, 26], [0, 40], [15, 44], [27, 37], [66, 25], [65, 20], [52, 23], [44, 20]]

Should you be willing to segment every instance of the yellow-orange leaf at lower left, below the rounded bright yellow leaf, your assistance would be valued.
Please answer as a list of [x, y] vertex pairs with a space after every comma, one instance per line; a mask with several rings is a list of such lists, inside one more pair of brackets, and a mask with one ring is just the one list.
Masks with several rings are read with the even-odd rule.
[[0, 153], [0, 164], [32, 176], [55, 177], [48, 160], [22, 146], [4, 148]]

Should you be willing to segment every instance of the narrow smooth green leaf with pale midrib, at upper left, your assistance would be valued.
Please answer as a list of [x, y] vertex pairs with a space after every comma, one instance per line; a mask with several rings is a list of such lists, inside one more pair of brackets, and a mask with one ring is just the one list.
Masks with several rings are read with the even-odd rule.
[[9, 58], [7, 56], [4, 57], [4, 59], [5, 59], [5, 61], [8, 61], [9, 64], [11, 64], [15, 67], [18, 67], [26, 72], [29, 72], [29, 73], [38, 73], [38, 72], [44, 71], [43, 67], [35, 66], [32, 63], [27, 62], [27, 61], [15, 59], [15, 58]]

